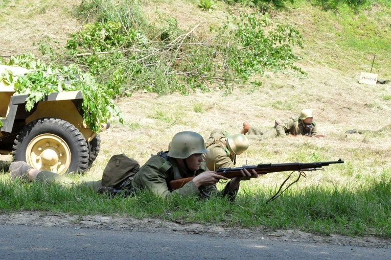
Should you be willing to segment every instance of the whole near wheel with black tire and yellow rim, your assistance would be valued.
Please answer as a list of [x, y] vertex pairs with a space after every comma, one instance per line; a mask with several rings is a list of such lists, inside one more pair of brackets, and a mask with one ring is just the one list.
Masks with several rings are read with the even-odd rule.
[[83, 173], [88, 166], [88, 146], [72, 124], [55, 118], [38, 119], [16, 136], [12, 155], [37, 170], [59, 174]]

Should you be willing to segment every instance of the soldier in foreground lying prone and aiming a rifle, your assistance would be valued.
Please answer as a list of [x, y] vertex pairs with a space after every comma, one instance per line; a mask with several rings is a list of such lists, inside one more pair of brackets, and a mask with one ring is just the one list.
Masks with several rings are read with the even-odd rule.
[[[202, 154], [207, 152], [209, 151], [205, 148], [204, 139], [200, 134], [189, 131], [179, 132], [172, 138], [170, 151], [149, 158], [140, 171], [134, 175], [130, 186], [134, 191], [148, 189], [162, 197], [170, 197], [173, 194], [208, 197], [210, 194], [217, 194], [234, 199], [240, 181], [258, 177], [255, 170], [250, 173], [243, 169], [241, 171], [243, 177], [232, 178], [222, 191], [218, 191], [215, 184], [227, 178], [209, 171], [205, 166]], [[98, 192], [111, 191], [109, 187], [102, 187], [101, 180], [82, 179], [74, 183], [65, 176], [50, 171], [35, 170], [24, 161], [12, 162], [9, 171], [12, 179], [22, 178], [49, 184], [56, 182], [65, 186], [86, 185]], [[169, 186], [171, 180], [193, 176], [195, 176], [193, 180], [178, 190], [172, 190]]]

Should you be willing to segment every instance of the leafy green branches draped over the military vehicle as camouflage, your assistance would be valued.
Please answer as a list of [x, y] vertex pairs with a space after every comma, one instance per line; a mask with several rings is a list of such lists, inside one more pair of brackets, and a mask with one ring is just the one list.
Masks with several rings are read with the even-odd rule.
[[54, 67], [35, 59], [32, 54], [23, 54], [12, 56], [6, 65], [31, 70], [24, 76], [15, 77], [11, 72], [7, 72], [0, 78], [5, 84], [13, 85], [16, 93], [28, 94], [27, 111], [50, 93], [81, 90], [83, 117], [91, 130], [99, 133], [101, 124], [106, 123], [111, 116], [119, 117], [119, 121], [123, 123], [121, 110], [105, 93], [105, 88], [100, 87], [91, 75], [83, 73], [75, 64]]

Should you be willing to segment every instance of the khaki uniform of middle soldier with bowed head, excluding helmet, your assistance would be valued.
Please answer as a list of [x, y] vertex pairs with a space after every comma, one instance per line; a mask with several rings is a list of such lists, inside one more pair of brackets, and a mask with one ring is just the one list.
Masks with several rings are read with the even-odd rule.
[[236, 155], [227, 148], [226, 136], [227, 133], [223, 130], [215, 129], [205, 141], [205, 147], [209, 152], [202, 154], [202, 158], [211, 171], [218, 168], [235, 168]]

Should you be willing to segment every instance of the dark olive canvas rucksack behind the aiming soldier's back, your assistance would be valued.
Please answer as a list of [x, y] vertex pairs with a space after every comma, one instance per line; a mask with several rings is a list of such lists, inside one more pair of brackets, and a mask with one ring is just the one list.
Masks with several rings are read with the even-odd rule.
[[113, 155], [103, 171], [102, 186], [124, 190], [139, 170], [140, 164], [136, 160], [125, 154]]

